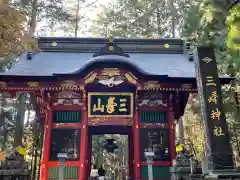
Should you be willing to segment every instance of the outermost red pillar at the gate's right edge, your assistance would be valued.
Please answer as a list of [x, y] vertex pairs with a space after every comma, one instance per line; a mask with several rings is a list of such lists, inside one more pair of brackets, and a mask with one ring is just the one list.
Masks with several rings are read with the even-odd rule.
[[168, 109], [168, 128], [169, 128], [170, 157], [172, 161], [176, 157], [176, 148], [175, 148], [175, 125], [171, 100]]

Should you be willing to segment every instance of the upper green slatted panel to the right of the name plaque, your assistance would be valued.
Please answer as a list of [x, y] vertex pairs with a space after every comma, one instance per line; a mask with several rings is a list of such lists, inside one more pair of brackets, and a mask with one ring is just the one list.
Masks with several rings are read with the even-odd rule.
[[167, 123], [167, 112], [163, 111], [143, 111], [140, 113], [142, 123]]

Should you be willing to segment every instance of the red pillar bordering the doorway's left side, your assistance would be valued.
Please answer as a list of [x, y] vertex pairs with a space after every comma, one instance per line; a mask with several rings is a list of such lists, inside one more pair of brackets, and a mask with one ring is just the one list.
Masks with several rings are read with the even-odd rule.
[[80, 166], [79, 166], [79, 180], [87, 180], [87, 148], [88, 148], [88, 128], [87, 128], [87, 108], [86, 97], [83, 97], [82, 108], [82, 128], [80, 138]]

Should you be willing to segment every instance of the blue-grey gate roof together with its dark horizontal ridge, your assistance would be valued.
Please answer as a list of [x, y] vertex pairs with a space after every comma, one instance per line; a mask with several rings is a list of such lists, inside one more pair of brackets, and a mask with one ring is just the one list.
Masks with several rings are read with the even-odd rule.
[[[180, 39], [116, 39], [129, 58], [104, 55], [93, 58], [108, 42], [105, 38], [39, 38], [41, 52], [19, 57], [18, 62], [2, 75], [54, 76], [71, 74], [93, 65], [116, 61], [133, 66], [143, 75], [168, 76], [195, 79], [195, 65], [185, 54], [184, 42]], [[105, 63], [104, 63], [105, 62]], [[104, 66], [105, 66], [104, 65]]]

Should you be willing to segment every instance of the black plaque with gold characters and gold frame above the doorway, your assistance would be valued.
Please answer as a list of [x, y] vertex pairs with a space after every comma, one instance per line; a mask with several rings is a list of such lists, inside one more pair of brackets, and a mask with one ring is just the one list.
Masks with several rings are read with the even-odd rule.
[[88, 93], [88, 117], [133, 117], [133, 93]]

